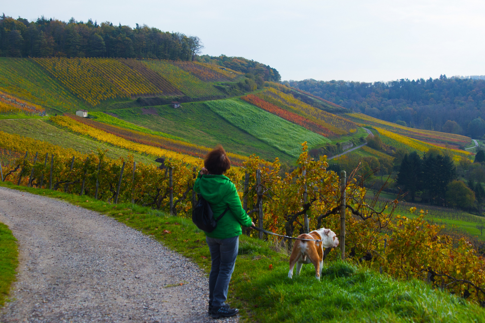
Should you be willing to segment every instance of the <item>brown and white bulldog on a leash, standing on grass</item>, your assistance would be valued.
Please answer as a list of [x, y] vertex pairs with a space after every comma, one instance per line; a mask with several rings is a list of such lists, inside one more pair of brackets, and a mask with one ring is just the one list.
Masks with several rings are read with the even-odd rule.
[[315, 266], [315, 277], [320, 280], [323, 259], [325, 259], [324, 257], [332, 248], [339, 246], [339, 238], [337, 238], [337, 234], [330, 229], [322, 228], [311, 231], [308, 234], [300, 234], [298, 238], [322, 240], [322, 242], [306, 240], [295, 241], [290, 256], [290, 271], [288, 272], [288, 277], [293, 277], [293, 267], [295, 264], [296, 274], [300, 275], [304, 263], [313, 263], [313, 266]]

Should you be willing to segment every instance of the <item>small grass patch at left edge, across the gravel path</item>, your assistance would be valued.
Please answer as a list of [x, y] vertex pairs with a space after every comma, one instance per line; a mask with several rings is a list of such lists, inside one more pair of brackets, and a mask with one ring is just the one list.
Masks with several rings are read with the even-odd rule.
[[16, 280], [18, 265], [17, 239], [3, 223], [0, 223], [0, 306], [10, 291], [10, 285]]

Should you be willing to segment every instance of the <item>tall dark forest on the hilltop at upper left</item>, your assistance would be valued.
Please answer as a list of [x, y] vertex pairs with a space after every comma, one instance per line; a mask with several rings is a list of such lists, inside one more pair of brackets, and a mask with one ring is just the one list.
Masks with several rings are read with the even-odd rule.
[[194, 60], [203, 48], [199, 37], [161, 31], [146, 25], [135, 28], [106, 21], [98, 24], [47, 19], [36, 21], [0, 17], [0, 56], [3, 57], [124, 57]]

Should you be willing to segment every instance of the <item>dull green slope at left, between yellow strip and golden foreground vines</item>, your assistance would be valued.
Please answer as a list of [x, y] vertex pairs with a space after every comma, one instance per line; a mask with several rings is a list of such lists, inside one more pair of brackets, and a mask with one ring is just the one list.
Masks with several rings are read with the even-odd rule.
[[106, 155], [110, 158], [126, 158], [129, 154], [134, 156], [135, 161], [152, 164], [155, 156], [146, 156], [136, 152], [128, 152], [126, 149], [114, 147], [107, 143], [95, 139], [80, 136], [65, 129], [60, 129], [44, 120], [38, 119], [21, 119], [21, 120], [0, 120], [0, 130], [8, 134], [17, 134], [24, 137], [30, 137], [47, 141], [63, 148], [72, 148], [78, 152], [88, 154], [91, 151], [97, 152], [97, 149], [108, 149]]

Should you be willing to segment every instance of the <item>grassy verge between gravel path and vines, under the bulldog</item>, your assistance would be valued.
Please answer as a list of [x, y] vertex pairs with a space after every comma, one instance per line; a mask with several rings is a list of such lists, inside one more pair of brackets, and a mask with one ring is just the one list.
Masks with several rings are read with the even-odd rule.
[[[110, 205], [90, 197], [1, 183], [3, 186], [66, 200], [112, 216], [153, 235], [166, 246], [210, 270], [205, 235], [190, 219], [132, 204]], [[396, 281], [343, 262], [326, 262], [322, 281], [312, 265], [287, 277], [288, 256], [270, 243], [242, 235], [228, 301], [253, 322], [485, 322], [485, 311], [417, 280]], [[335, 251], [334, 251], [335, 252]]]

